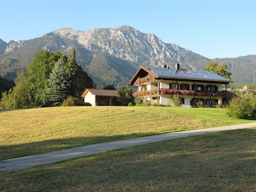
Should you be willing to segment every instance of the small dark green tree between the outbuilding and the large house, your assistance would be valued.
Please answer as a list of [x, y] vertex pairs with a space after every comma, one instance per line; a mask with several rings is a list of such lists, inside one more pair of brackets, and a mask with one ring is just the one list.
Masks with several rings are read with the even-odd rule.
[[118, 102], [121, 102], [122, 105], [127, 106], [128, 103], [134, 102], [134, 98], [132, 96], [133, 89], [130, 86], [121, 86], [118, 90]]

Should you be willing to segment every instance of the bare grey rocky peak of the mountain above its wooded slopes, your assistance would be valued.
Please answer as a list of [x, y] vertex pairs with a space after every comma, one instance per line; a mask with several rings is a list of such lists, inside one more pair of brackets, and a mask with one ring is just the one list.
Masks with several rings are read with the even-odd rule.
[[182, 47], [162, 42], [155, 34], [144, 34], [130, 26], [84, 31], [62, 28], [54, 33], [77, 41], [88, 50], [103, 51], [129, 62], [150, 66], [182, 63], [179, 52], [186, 52]]

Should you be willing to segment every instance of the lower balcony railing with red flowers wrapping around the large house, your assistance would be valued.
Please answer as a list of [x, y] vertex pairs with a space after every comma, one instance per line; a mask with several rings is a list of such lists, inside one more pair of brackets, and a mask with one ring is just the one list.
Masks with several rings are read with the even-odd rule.
[[[135, 92], [134, 97], [142, 97], [148, 95], [158, 94], [158, 90], [144, 90]], [[196, 91], [196, 90], [160, 90], [159, 94], [180, 94], [180, 95], [195, 95], [195, 96], [208, 96], [208, 97], [226, 97], [227, 91]]]

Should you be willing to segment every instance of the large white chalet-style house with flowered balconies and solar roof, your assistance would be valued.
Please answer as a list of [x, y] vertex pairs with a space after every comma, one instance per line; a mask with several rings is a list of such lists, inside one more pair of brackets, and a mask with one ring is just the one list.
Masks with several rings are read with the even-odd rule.
[[204, 70], [141, 66], [129, 84], [135, 98], [163, 106], [222, 106], [230, 79]]

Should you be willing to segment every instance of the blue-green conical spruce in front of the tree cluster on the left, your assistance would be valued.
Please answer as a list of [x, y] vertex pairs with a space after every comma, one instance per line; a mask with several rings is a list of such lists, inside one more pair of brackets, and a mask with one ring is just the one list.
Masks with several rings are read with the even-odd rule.
[[50, 73], [46, 90], [46, 102], [53, 106], [60, 105], [68, 96], [69, 90], [69, 78], [61, 60], [59, 60], [55, 63], [54, 69]]

